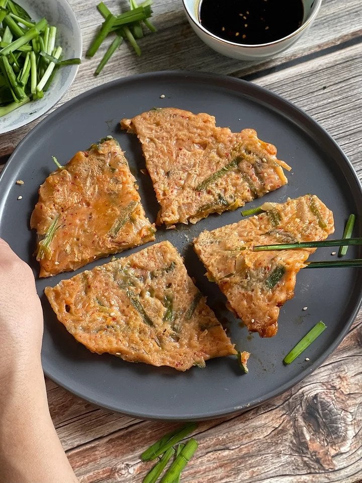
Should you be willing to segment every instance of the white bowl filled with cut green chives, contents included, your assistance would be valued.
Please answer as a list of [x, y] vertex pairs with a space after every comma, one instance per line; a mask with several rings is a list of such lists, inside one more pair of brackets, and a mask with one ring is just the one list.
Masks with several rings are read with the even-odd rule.
[[67, 0], [0, 0], [0, 134], [34, 121], [62, 98], [81, 46]]

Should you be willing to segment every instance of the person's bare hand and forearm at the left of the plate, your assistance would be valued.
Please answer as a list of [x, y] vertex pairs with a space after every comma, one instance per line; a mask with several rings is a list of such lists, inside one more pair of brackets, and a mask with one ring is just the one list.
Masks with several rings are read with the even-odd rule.
[[50, 418], [43, 312], [30, 267], [0, 238], [0, 481], [77, 483]]

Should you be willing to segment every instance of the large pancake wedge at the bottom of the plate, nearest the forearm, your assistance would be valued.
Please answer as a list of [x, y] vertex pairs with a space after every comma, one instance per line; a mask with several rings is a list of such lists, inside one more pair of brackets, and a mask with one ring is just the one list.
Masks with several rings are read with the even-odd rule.
[[45, 289], [58, 319], [90, 351], [185, 371], [236, 354], [168, 242]]

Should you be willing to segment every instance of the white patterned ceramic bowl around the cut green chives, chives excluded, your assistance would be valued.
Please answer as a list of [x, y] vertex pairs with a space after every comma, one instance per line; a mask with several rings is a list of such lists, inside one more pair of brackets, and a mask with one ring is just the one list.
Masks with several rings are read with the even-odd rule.
[[[57, 27], [56, 44], [63, 47], [63, 58], [81, 56], [82, 39], [80, 26], [67, 0], [17, 0], [32, 17], [45, 17], [49, 25]], [[6, 116], [0, 117], [0, 134], [25, 126], [45, 114], [67, 92], [78, 70], [78, 65], [61, 67], [43, 99], [28, 102]]]

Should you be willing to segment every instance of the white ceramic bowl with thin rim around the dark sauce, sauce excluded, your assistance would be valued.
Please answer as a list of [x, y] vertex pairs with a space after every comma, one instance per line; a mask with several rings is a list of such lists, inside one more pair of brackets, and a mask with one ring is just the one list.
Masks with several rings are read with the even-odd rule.
[[199, 8], [202, 0], [183, 0], [186, 16], [191, 27], [197, 35], [209, 47], [216, 50], [220, 54], [241, 60], [258, 60], [270, 57], [292, 45], [303, 33], [308, 29], [318, 14], [322, 0], [302, 0], [304, 6], [304, 18], [299, 29], [295, 30], [286, 37], [269, 42], [266, 44], [247, 45], [237, 44], [224, 40], [205, 29], [199, 20]]

